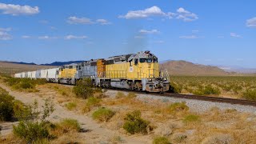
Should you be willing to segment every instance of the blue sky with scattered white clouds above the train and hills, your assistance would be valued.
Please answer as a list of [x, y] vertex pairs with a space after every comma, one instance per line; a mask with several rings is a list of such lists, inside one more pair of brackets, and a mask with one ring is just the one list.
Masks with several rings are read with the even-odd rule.
[[49, 63], [151, 50], [161, 61], [256, 68], [256, 1], [0, 1], [0, 60]]

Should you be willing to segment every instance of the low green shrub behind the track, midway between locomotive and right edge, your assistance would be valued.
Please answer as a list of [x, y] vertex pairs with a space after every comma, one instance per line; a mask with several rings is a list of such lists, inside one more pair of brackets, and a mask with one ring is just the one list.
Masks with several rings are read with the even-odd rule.
[[205, 86], [202, 89], [195, 90], [193, 92], [193, 94], [196, 94], [196, 95], [219, 95], [219, 94], [221, 94], [221, 92], [217, 87], [214, 88], [213, 86]]

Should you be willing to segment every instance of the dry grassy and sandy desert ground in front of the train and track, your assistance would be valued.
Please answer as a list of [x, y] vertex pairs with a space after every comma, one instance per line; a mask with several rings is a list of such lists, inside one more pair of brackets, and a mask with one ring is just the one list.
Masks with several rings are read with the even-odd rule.
[[[102, 90], [92, 95], [99, 101], [88, 109], [89, 99], [75, 96], [73, 86], [46, 83], [36, 90], [14, 90], [1, 81], [0, 87], [26, 105], [44, 99], [54, 103], [48, 120], [61, 122], [65, 118], [78, 121], [81, 130], [59, 134], [46, 143], [254, 143], [256, 142], [256, 108], [218, 102], [186, 101], [156, 98], [154, 95]], [[102, 107], [114, 111], [104, 121], [94, 119]], [[139, 110], [149, 122], [146, 132], [130, 134], [124, 129], [126, 115]], [[13, 134], [18, 122], [1, 122], [2, 143], [23, 142]], [[159, 140], [160, 139], [160, 140]], [[164, 139], [164, 140], [162, 140]], [[167, 141], [166, 141], [167, 140]]]

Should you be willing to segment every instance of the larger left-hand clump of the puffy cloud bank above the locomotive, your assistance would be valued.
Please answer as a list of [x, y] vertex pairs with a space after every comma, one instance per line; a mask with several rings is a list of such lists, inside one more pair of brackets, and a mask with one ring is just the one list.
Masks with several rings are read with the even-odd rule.
[[145, 10], [130, 10], [126, 15], [120, 15], [119, 18], [148, 18], [150, 16], [165, 16], [166, 14], [158, 6], [152, 6]]

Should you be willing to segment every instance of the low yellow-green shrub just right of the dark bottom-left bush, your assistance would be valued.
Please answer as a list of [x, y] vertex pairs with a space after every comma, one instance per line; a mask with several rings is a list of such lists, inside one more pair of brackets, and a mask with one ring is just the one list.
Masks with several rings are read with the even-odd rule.
[[78, 121], [70, 118], [63, 119], [62, 122], [58, 122], [54, 126], [54, 133], [57, 135], [78, 132], [79, 130], [81, 130], [81, 126]]

